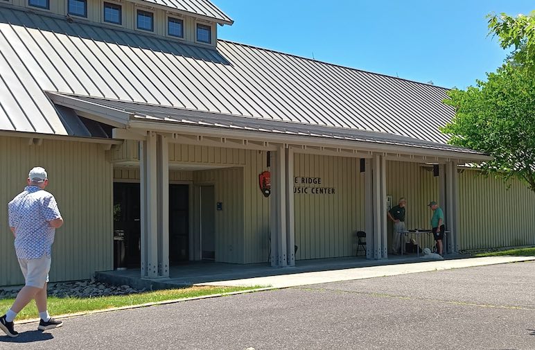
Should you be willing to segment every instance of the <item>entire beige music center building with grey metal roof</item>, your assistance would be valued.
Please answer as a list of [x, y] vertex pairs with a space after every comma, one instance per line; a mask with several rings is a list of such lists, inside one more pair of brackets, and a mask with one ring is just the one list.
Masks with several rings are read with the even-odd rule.
[[[412, 228], [439, 198], [449, 252], [535, 244], [532, 193], [459, 167], [488, 157], [439, 132], [446, 89], [218, 40], [218, 24], [208, 0], [0, 0], [0, 202], [49, 171], [53, 281], [112, 270], [114, 238], [148, 278], [352, 256], [356, 230], [387, 259], [402, 195]], [[0, 285], [21, 283], [0, 222]]]

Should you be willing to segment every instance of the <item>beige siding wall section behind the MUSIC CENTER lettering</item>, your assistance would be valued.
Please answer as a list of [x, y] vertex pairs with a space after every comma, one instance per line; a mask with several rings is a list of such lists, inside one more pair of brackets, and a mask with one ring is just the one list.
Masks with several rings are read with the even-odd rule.
[[[353, 231], [364, 229], [364, 176], [359, 159], [295, 155], [295, 177], [321, 177], [334, 194], [295, 193], [296, 259], [351, 256]], [[296, 185], [297, 188], [297, 185]]]

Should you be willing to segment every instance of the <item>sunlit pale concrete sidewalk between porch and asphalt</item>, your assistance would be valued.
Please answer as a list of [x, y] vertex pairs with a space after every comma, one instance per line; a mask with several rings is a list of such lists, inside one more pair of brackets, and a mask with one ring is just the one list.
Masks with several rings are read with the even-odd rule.
[[[195, 285], [272, 286], [274, 288], [288, 288], [297, 286], [308, 286], [311, 284], [319, 283], [395, 276], [398, 274], [413, 274], [417, 272], [472, 268], [475, 266], [496, 265], [502, 263], [516, 263], [520, 261], [535, 261], [535, 256], [488, 256], [483, 258], [469, 258], [445, 261], [422, 261], [419, 263], [405, 263], [399, 265], [381, 265], [366, 268], [350, 268], [343, 270], [328, 270], [318, 272], [298, 272], [294, 274], [279, 274], [276, 276], [212, 281], [207, 283], [196, 283]], [[290, 270], [292, 268], [284, 268], [284, 270], [286, 269]]]

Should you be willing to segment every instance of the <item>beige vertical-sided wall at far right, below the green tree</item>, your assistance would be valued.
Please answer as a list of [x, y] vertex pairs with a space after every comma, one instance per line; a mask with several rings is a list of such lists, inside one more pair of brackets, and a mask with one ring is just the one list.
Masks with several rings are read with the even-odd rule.
[[459, 175], [459, 249], [535, 245], [535, 193], [478, 173]]

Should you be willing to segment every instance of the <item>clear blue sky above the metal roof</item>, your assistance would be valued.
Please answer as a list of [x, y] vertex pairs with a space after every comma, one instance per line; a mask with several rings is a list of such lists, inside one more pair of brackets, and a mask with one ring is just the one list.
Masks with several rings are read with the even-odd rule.
[[235, 23], [219, 37], [443, 87], [464, 89], [506, 52], [485, 15], [533, 0], [213, 0]]

